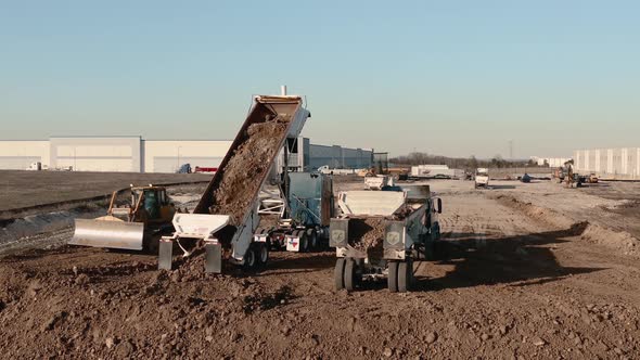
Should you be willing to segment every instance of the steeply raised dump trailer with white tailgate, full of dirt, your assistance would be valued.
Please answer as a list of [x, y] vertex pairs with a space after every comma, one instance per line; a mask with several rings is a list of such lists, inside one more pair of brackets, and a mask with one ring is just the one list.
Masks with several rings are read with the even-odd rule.
[[[181, 239], [204, 241], [206, 272], [221, 272], [225, 259], [249, 269], [267, 262], [267, 243], [254, 236], [259, 223], [258, 194], [286, 139], [297, 138], [308, 117], [300, 97], [283, 93], [254, 98], [248, 116], [194, 214], [177, 215], [176, 232], [163, 236], [161, 269], [172, 267], [172, 244]], [[285, 159], [286, 151], [284, 146]]]

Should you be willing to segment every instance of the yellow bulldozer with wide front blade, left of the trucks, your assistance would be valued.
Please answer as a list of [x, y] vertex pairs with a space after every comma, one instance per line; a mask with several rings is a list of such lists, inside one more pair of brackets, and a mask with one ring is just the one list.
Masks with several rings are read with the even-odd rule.
[[68, 244], [157, 253], [163, 234], [174, 231], [171, 219], [177, 213], [164, 187], [131, 185], [131, 202], [116, 206], [114, 191], [106, 216], [76, 219]]

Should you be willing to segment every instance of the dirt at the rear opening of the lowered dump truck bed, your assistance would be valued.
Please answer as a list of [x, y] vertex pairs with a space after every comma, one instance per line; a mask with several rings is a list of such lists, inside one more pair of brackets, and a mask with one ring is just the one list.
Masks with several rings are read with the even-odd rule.
[[349, 219], [349, 245], [371, 258], [382, 258], [384, 230], [384, 218]]

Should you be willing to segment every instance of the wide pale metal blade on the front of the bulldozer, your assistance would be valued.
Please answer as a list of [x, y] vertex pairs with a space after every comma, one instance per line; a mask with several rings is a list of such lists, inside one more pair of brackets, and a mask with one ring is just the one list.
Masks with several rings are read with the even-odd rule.
[[139, 222], [76, 219], [71, 245], [142, 250], [144, 224]]

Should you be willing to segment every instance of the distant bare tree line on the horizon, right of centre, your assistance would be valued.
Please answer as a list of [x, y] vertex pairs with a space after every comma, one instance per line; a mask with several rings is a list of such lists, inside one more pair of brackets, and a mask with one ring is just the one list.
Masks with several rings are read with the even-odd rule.
[[[408, 155], [392, 157], [389, 159], [394, 166], [410, 165], [447, 165], [451, 169], [476, 169], [478, 167], [488, 168], [508, 168], [508, 167], [538, 167], [534, 160], [507, 160], [502, 156], [496, 155], [490, 159], [478, 159], [471, 157], [448, 157], [441, 155], [431, 155], [427, 153], [413, 152]], [[548, 166], [548, 165], [547, 165]]]

